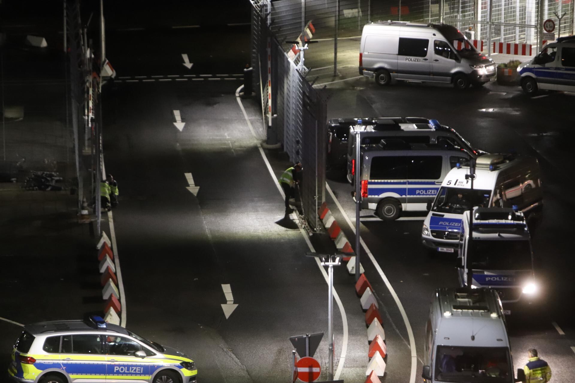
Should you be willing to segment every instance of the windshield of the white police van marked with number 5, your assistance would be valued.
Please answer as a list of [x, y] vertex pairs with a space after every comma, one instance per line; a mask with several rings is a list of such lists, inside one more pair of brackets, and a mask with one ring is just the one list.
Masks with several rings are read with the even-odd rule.
[[442, 186], [435, 198], [431, 211], [440, 213], [463, 214], [473, 206], [488, 207], [490, 190], [463, 189]]

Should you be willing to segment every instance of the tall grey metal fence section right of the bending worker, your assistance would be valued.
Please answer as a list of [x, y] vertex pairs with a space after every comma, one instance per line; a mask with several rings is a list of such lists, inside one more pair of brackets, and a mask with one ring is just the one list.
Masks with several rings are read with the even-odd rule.
[[[307, 69], [302, 61], [305, 53], [294, 44], [286, 49], [268, 26], [269, 9], [277, 2], [250, 2], [252, 80], [262, 103], [267, 142], [274, 144], [277, 140], [290, 161], [300, 161], [304, 167], [300, 186], [302, 210], [306, 223], [316, 230], [319, 227], [317, 210], [325, 199], [326, 102], [305, 78]], [[307, 22], [303, 24], [306, 25]], [[304, 28], [293, 29], [282, 39], [285, 41], [290, 36], [296, 40], [302, 32]]]

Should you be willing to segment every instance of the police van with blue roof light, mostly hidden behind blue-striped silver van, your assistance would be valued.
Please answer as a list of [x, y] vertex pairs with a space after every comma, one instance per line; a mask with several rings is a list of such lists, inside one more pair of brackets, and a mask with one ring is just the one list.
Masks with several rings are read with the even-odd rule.
[[[455, 129], [441, 125], [436, 119], [424, 117], [381, 117], [369, 121], [358, 119], [356, 125], [349, 127], [347, 135], [347, 181], [351, 184], [355, 175], [357, 132], [361, 136], [362, 155], [368, 150], [412, 148], [454, 150], [465, 152], [471, 157], [485, 154], [482, 150], [474, 149]], [[453, 161], [454, 164], [457, 163], [457, 160]]]

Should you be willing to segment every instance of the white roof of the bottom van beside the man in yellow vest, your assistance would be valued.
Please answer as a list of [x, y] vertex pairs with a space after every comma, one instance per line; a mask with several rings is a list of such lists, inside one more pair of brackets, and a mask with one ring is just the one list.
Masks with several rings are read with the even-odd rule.
[[440, 288], [436, 299], [437, 345], [509, 347], [503, 313], [492, 289]]

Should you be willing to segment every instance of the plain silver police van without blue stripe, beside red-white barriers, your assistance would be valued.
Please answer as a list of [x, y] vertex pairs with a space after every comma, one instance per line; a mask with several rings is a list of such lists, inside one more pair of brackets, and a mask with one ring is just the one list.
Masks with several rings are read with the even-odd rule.
[[494, 61], [454, 26], [379, 21], [363, 26], [359, 74], [379, 85], [394, 79], [465, 89], [496, 80], [497, 71]]

